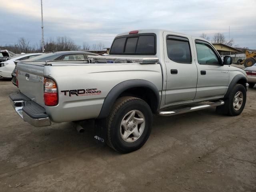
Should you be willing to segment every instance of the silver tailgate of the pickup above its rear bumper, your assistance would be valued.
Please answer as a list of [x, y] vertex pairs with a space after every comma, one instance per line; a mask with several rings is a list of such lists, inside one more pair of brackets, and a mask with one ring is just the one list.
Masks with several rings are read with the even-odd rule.
[[18, 62], [17, 70], [20, 92], [44, 107], [44, 65]]

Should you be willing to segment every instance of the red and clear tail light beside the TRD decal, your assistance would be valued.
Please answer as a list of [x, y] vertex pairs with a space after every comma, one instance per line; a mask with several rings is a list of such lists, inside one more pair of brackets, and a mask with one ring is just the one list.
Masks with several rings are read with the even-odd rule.
[[44, 78], [44, 104], [56, 106], [58, 104], [58, 89], [54, 80]]

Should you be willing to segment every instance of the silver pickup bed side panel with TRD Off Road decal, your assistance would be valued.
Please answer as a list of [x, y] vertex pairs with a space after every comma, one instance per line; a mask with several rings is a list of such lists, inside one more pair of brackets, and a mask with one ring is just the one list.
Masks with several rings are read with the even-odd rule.
[[[162, 72], [159, 64], [88, 64], [76, 66], [45, 66], [44, 76], [58, 85], [59, 103], [45, 106], [54, 122], [68, 122], [96, 118], [100, 114], [104, 98], [120, 82], [131, 79], [148, 80], [162, 89]], [[66, 95], [67, 90], [97, 89], [100, 93]], [[82, 92], [82, 91], [81, 91]]]

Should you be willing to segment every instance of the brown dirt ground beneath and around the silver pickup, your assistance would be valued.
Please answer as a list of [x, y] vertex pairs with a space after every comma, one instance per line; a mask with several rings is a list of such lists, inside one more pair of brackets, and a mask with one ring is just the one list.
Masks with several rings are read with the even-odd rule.
[[10, 105], [16, 91], [0, 79], [1, 192], [256, 191], [256, 86], [240, 116], [214, 108], [155, 116], [150, 138], [130, 154], [72, 123], [30, 126]]

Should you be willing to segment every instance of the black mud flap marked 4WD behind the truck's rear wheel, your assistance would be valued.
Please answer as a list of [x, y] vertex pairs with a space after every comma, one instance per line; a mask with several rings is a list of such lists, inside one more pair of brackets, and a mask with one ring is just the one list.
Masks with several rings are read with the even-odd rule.
[[98, 144], [106, 144], [107, 132], [106, 119], [96, 119], [94, 124], [94, 139]]

